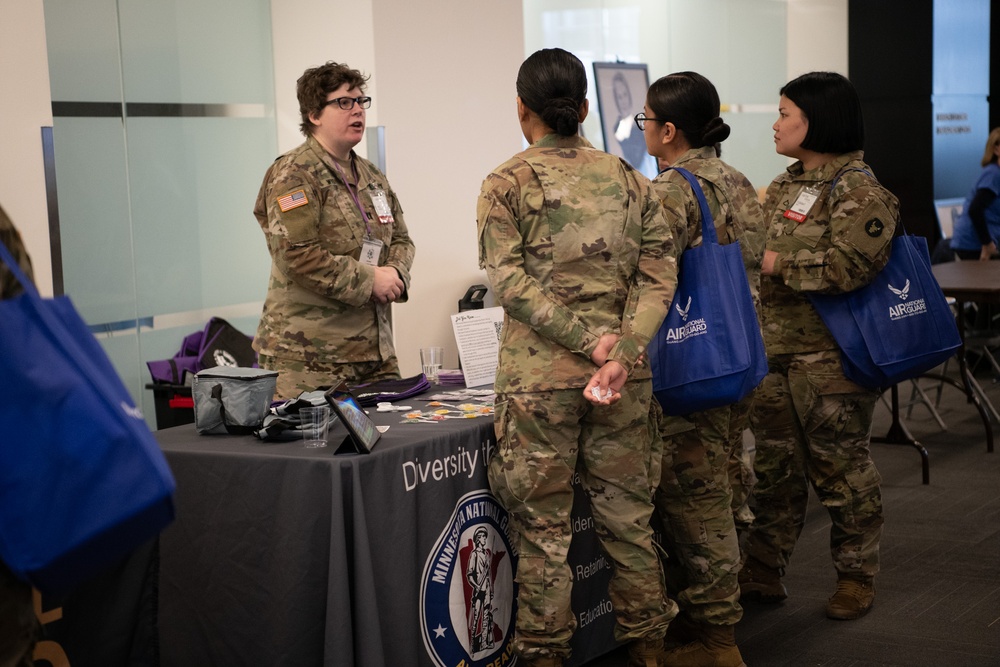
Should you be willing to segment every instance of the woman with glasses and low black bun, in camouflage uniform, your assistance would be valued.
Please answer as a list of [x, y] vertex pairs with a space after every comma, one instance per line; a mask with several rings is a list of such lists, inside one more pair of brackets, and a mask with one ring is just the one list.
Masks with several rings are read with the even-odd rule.
[[[664, 170], [653, 180], [663, 207], [683, 213], [676, 231], [682, 250], [700, 245], [702, 219], [697, 197], [675, 169], [691, 172], [705, 193], [719, 243], [739, 242], [750, 292], [757, 300], [764, 252], [764, 219], [750, 181], [719, 159], [729, 136], [719, 116], [719, 95], [696, 72], [665, 76], [649, 87], [636, 123], [650, 155]], [[734, 513], [748, 521], [747, 494], [753, 480], [744, 463], [743, 431], [749, 425], [753, 393], [734, 405], [681, 416], [659, 416], [663, 473], [656, 506], [670, 553], [667, 581], [681, 615], [670, 638], [681, 645], [667, 664], [742, 667], [733, 631], [742, 618], [737, 573], [740, 547]]]

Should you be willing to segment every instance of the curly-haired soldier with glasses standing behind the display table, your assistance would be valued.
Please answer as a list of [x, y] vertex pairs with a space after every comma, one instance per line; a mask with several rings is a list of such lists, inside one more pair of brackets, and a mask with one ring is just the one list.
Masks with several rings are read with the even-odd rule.
[[407, 298], [414, 245], [379, 169], [354, 152], [368, 77], [328, 62], [299, 78], [306, 141], [267, 170], [254, 216], [271, 253], [254, 348], [276, 398], [399, 377], [391, 304]]

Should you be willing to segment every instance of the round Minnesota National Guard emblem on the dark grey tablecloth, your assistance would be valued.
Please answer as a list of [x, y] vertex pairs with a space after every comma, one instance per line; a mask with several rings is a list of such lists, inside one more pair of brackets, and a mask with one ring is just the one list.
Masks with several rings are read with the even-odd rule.
[[517, 554], [507, 522], [489, 492], [467, 493], [424, 565], [420, 625], [440, 667], [514, 663]]

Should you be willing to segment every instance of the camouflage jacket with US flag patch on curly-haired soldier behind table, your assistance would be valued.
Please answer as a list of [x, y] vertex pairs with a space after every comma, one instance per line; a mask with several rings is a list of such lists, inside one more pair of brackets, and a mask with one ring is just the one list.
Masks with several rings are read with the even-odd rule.
[[[353, 151], [351, 157], [367, 224], [333, 157], [313, 137], [275, 160], [264, 176], [254, 216], [272, 262], [254, 340], [260, 353], [326, 363], [395, 354], [390, 305], [372, 301], [374, 268], [359, 258], [366, 236], [380, 240], [379, 266], [395, 268], [408, 290], [413, 242], [385, 175]], [[350, 168], [341, 168], [350, 179]], [[379, 222], [371, 198], [376, 188], [386, 194], [391, 223]]]

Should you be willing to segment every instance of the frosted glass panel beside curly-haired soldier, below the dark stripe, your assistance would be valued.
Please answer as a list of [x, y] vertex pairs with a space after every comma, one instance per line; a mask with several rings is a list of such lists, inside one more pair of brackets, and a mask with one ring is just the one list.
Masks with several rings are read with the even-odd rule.
[[141, 316], [262, 301], [270, 258], [253, 217], [274, 159], [272, 119], [133, 118]]

